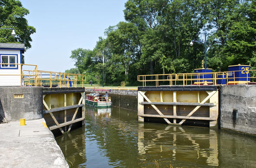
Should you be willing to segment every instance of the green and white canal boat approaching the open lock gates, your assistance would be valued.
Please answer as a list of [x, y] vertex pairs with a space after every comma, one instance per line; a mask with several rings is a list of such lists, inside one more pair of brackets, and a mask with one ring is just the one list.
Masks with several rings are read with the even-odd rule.
[[111, 97], [100, 93], [86, 94], [85, 104], [93, 107], [111, 107]]

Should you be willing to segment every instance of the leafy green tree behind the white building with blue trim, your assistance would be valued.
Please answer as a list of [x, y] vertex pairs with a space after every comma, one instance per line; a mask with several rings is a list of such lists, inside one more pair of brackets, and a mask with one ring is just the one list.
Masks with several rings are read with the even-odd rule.
[[10, 30], [0, 30], [1, 43], [24, 43], [26, 49], [31, 47], [30, 35], [35, 33], [35, 28], [28, 25], [24, 18], [29, 14], [19, 0], [0, 0], [0, 27], [14, 28], [16, 37], [12, 37]]

